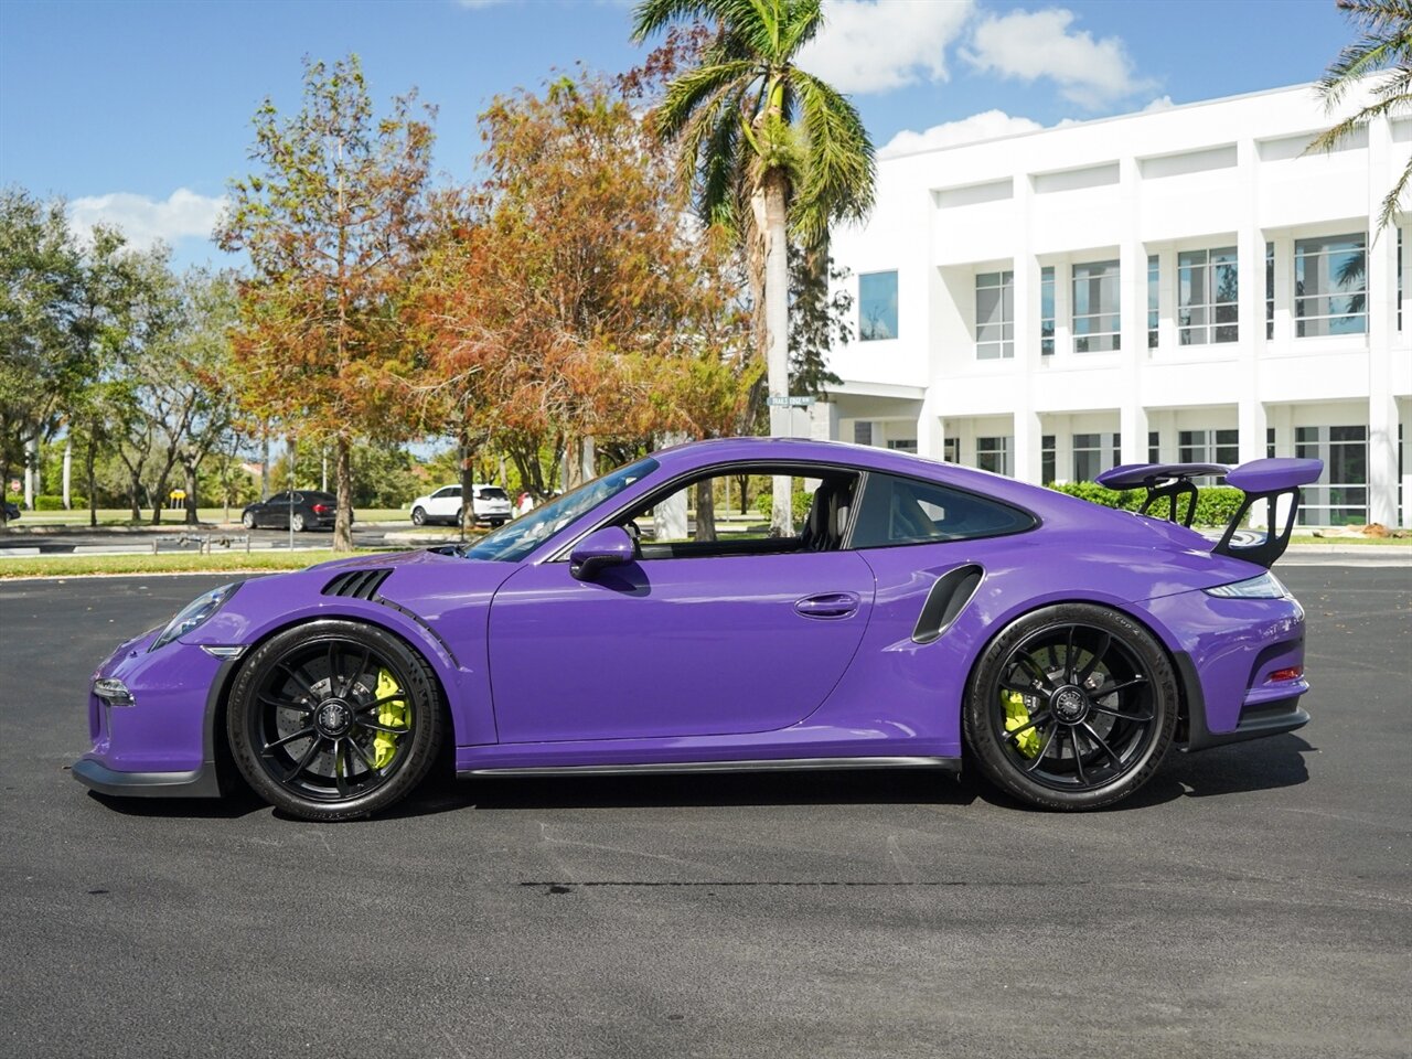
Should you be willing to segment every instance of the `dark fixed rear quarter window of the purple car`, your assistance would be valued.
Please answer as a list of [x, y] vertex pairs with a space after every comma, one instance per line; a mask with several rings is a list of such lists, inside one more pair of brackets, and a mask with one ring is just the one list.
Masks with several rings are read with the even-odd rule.
[[964, 541], [1029, 530], [1024, 511], [946, 486], [868, 474], [853, 530], [854, 548]]

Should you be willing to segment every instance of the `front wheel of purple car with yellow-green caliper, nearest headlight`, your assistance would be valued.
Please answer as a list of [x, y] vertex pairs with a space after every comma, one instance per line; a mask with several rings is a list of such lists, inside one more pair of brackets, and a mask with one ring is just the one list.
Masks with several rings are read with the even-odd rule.
[[232, 755], [250, 786], [292, 816], [325, 822], [405, 798], [436, 760], [443, 723], [422, 657], [385, 630], [342, 620], [261, 644], [226, 710]]

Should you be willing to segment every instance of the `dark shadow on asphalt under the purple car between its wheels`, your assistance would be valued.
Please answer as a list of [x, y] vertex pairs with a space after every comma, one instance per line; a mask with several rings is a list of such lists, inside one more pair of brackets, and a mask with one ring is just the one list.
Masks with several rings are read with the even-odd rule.
[[594, 777], [473, 777], [424, 785], [380, 819], [518, 809], [967, 805], [974, 785], [932, 768]]

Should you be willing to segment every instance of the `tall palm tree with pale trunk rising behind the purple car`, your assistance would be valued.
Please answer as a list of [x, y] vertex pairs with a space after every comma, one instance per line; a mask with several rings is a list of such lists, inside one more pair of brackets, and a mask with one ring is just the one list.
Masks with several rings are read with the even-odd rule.
[[[806, 246], [829, 225], [873, 208], [873, 143], [853, 104], [795, 65], [823, 25], [819, 0], [641, 0], [633, 40], [682, 23], [714, 23], [696, 66], [666, 88], [658, 134], [681, 148], [681, 179], [705, 222], [740, 240], [764, 326], [771, 398], [789, 393], [791, 233]], [[758, 321], [758, 315], [757, 315]], [[770, 432], [788, 432], [771, 404]], [[788, 481], [788, 479], [785, 480]], [[772, 524], [788, 532], [788, 486], [775, 483]]]

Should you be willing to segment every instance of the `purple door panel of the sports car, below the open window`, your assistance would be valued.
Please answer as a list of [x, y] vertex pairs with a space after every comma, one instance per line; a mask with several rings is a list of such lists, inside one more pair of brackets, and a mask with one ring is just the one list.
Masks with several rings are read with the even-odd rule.
[[843, 676], [871, 606], [854, 552], [642, 559], [592, 582], [525, 566], [490, 610], [500, 740], [789, 727]]

